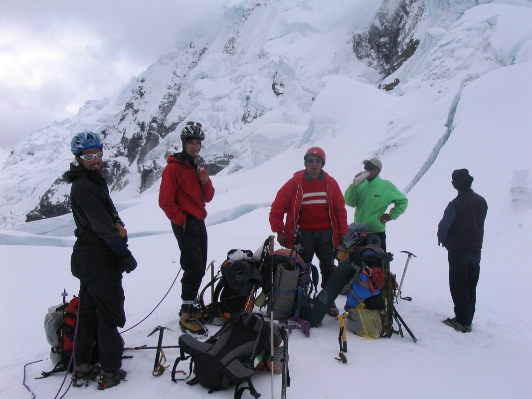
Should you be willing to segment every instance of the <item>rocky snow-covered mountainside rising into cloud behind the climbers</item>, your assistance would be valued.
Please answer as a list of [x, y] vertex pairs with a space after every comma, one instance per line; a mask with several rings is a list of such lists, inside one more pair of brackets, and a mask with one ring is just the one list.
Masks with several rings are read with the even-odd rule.
[[[422, 54], [414, 53], [417, 61], [406, 74], [415, 69], [419, 75], [437, 43], [434, 35], [442, 36], [443, 28], [474, 4], [235, 5], [209, 34], [161, 57], [112, 98], [88, 101], [76, 116], [16, 146], [0, 171], [0, 225], [69, 212], [69, 186], [61, 176], [72, 160], [69, 140], [81, 130], [105, 137], [106, 177], [122, 198], [144, 192], [159, 179], [165, 157], [180, 147], [186, 120], [204, 124], [203, 155], [211, 173], [248, 170], [290, 146], [314, 141], [334, 124], [311, 112], [327, 77], [376, 85], [404, 62], [405, 48], [412, 49], [414, 42], [421, 43]], [[438, 33], [426, 33], [434, 27]], [[380, 47], [371, 41], [376, 37]], [[361, 41], [364, 51], [357, 47]], [[397, 92], [403, 90], [403, 75], [399, 79]]]

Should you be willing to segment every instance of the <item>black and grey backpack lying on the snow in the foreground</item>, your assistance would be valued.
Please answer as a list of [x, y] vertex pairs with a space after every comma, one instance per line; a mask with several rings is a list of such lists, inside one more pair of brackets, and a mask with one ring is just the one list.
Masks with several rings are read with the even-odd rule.
[[[176, 359], [172, 369], [172, 381], [177, 382], [176, 368], [181, 360], [190, 358], [189, 378], [194, 370], [194, 378], [189, 385], [200, 384], [214, 390], [235, 387], [235, 399], [242, 397], [244, 390], [258, 398], [251, 377], [255, 369], [261, 369], [262, 359], [268, 359], [271, 352], [271, 323], [265, 321], [261, 314], [239, 312], [226, 320], [220, 330], [201, 342], [196, 338], [183, 334], [179, 337], [180, 357]], [[281, 343], [280, 330], [274, 326], [273, 345]], [[188, 354], [188, 356], [186, 355]], [[240, 384], [247, 383], [247, 387]]]

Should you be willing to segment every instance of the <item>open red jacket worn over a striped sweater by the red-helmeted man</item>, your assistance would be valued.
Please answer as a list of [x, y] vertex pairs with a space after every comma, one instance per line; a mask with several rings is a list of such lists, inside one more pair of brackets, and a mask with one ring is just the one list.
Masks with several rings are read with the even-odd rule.
[[[329, 216], [332, 224], [332, 243], [338, 249], [338, 235], [347, 234], [347, 211], [345, 210], [344, 195], [335, 179], [325, 175], [327, 187], [327, 199], [329, 200]], [[292, 247], [294, 240], [293, 231], [296, 229], [299, 219], [301, 202], [303, 201], [302, 180], [305, 178], [305, 170], [294, 173], [294, 177], [281, 187], [275, 201], [271, 204], [270, 226], [273, 232], [284, 231], [288, 248]], [[286, 223], [282, 223], [286, 213]]]

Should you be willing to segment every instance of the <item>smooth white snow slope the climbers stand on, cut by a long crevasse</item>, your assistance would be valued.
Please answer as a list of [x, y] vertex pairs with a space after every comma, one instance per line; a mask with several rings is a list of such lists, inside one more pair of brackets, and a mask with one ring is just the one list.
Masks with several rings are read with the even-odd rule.
[[[401, 251], [418, 256], [403, 285], [403, 294], [413, 300], [397, 304], [418, 342], [408, 335], [367, 340], [350, 333], [348, 362], [338, 363], [338, 322], [326, 317], [309, 338], [299, 331], [290, 336], [288, 397], [531, 396], [532, 8], [524, 2], [497, 3], [473, 7], [450, 29], [433, 31], [439, 39], [419, 73], [390, 93], [355, 78], [320, 79], [323, 87], [309, 110], [313, 124], [301, 146], [295, 143], [273, 157], [264, 153], [264, 162], [254, 168], [212, 178], [216, 194], [207, 205], [209, 261], [222, 261], [231, 248], [255, 250], [271, 234], [269, 204], [292, 173], [303, 168], [309, 146], [325, 149], [325, 169], [342, 189], [362, 170], [363, 159], [378, 156], [381, 176], [408, 191], [408, 209], [387, 226], [387, 246], [394, 254], [392, 271], [399, 276], [406, 261]], [[437, 224], [456, 194], [451, 173], [459, 168], [469, 169], [473, 189], [489, 206], [469, 334], [441, 323], [453, 315], [453, 303], [446, 251], [436, 241]], [[117, 201], [139, 262], [123, 279], [126, 328], [153, 309], [179, 270], [176, 240], [157, 206], [158, 185], [141, 197]], [[353, 214], [348, 208], [349, 221]], [[22, 367], [48, 356], [42, 328], [46, 309], [60, 302], [63, 288], [70, 295], [78, 289], [69, 270], [72, 221], [64, 215], [0, 230], [0, 243], [0, 396], [30, 397], [22, 386]], [[337, 305], [344, 300], [340, 296]], [[157, 337], [146, 336], [159, 325], [173, 330], [165, 332], [164, 344], [177, 344], [179, 306], [177, 283], [150, 318], [124, 333], [126, 345], [155, 345]], [[123, 362], [127, 382], [104, 393], [95, 384], [72, 388], [68, 397], [232, 397], [231, 390], [209, 395], [201, 386], [173, 384], [169, 373], [153, 377], [153, 351], [132, 354]], [[177, 352], [166, 355], [173, 362]], [[47, 369], [47, 360], [27, 368], [27, 384], [37, 398], [52, 397], [61, 384], [60, 376], [32, 379]], [[263, 397], [270, 396], [268, 373], [255, 376], [253, 383]], [[275, 384], [279, 397], [280, 377]]]

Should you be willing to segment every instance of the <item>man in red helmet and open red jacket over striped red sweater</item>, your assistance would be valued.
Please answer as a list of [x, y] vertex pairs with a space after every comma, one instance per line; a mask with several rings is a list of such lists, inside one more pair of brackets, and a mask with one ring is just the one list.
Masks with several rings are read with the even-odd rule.
[[[325, 165], [323, 149], [311, 147], [303, 159], [305, 169], [294, 173], [271, 205], [270, 226], [277, 233], [279, 244], [287, 248], [294, 242], [293, 231], [300, 227], [301, 234], [297, 238], [297, 244], [303, 247], [300, 255], [309, 263], [316, 254], [324, 287], [335, 269], [335, 250], [344, 243], [347, 234], [347, 211], [338, 183], [322, 170]], [[338, 314], [334, 303], [328, 314]]]

